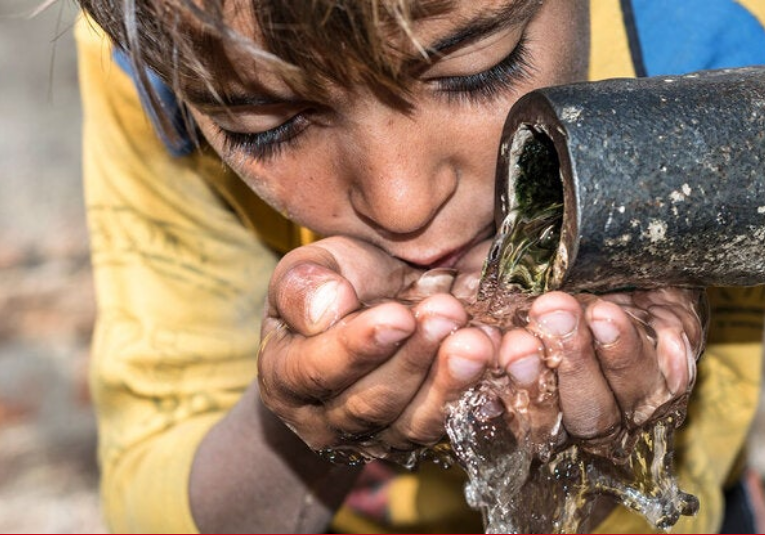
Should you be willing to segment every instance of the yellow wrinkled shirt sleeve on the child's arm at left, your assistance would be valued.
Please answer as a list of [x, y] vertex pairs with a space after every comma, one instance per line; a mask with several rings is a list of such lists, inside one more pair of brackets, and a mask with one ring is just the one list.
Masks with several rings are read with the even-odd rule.
[[105, 516], [118, 533], [194, 532], [191, 463], [256, 376], [276, 256], [218, 194], [231, 172], [171, 157], [108, 40], [87, 19], [76, 37]]

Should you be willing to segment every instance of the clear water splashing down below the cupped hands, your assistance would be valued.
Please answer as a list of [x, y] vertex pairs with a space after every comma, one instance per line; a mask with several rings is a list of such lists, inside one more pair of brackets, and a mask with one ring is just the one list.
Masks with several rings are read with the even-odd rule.
[[[626, 460], [577, 445], [539, 456], [518, 396], [506, 377], [487, 377], [450, 406], [447, 431], [468, 474], [468, 504], [483, 513], [487, 533], [579, 533], [601, 495], [611, 495], [657, 528], [698, 509], [672, 474], [671, 446], [681, 412], [665, 416], [621, 441], [634, 441]], [[511, 429], [521, 433], [516, 434]]]

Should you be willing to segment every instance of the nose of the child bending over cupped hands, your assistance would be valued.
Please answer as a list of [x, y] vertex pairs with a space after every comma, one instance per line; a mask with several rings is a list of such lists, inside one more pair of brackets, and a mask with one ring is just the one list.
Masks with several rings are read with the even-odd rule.
[[352, 174], [353, 209], [369, 224], [391, 234], [426, 228], [454, 195], [456, 159], [422, 117], [386, 108], [366, 114], [346, 145]]

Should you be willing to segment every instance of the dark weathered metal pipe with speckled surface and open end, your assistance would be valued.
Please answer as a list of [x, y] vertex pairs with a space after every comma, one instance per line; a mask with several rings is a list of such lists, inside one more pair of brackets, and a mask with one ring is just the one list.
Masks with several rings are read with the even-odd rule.
[[502, 135], [498, 226], [529, 196], [563, 200], [547, 289], [765, 283], [765, 67], [525, 95]]

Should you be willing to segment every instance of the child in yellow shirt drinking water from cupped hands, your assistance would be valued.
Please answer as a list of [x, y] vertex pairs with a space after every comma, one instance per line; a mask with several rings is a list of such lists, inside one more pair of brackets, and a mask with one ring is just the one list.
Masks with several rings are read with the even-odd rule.
[[[590, 77], [634, 74], [618, 2], [81, 3], [113, 530], [480, 530], [456, 470], [359, 476], [316, 452], [434, 444], [444, 404], [487, 367], [529, 382], [553, 346], [563, 439], [593, 447], [697, 383], [678, 470], [703, 509], [678, 529], [719, 528], [760, 359], [728, 344], [696, 379], [698, 292], [552, 292], [504, 335], [462, 305], [493, 233], [507, 110], [586, 79], [590, 58]], [[457, 270], [450, 290], [397, 302], [434, 268]], [[602, 529], [647, 529], [607, 501], [593, 525], [609, 513]]]

